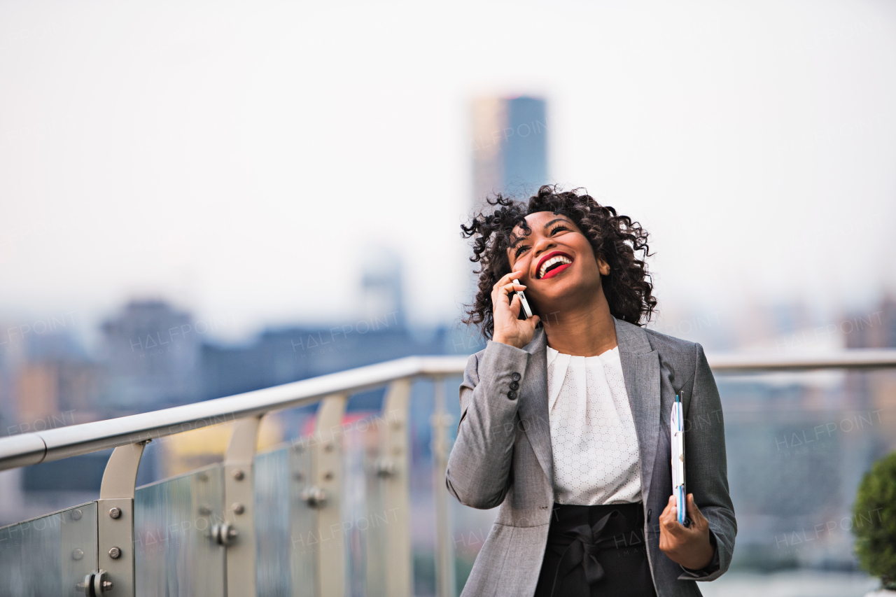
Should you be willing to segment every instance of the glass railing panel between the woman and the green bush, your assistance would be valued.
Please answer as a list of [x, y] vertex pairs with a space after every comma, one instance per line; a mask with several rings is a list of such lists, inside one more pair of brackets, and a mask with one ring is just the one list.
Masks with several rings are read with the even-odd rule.
[[[893, 372], [716, 379], [737, 513], [732, 570], [855, 571], [852, 527], [878, 513], [851, 508], [862, 475], [894, 446]], [[710, 414], [690, 432], [720, 421]]]

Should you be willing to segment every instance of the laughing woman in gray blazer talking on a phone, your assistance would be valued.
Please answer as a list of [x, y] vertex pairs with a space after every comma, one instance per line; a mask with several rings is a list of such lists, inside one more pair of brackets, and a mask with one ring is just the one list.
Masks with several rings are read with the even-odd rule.
[[[656, 306], [636, 256], [649, 255], [647, 232], [550, 186], [528, 204], [489, 203], [462, 227], [481, 264], [466, 321], [491, 340], [464, 373], [446, 483], [466, 506], [501, 507], [463, 596], [700, 595], [694, 581], [728, 569], [737, 533], [725, 430], [700, 344], [641, 327]], [[671, 482], [676, 394], [685, 525]]]

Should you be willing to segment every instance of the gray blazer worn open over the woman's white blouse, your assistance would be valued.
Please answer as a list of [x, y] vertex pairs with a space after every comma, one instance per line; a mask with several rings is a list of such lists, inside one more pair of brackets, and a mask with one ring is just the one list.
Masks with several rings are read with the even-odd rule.
[[[711, 581], [728, 570], [737, 534], [719, 391], [700, 344], [618, 319], [616, 341], [638, 435], [653, 584], [659, 597], [700, 595], [694, 581]], [[489, 341], [467, 363], [445, 481], [465, 506], [501, 507], [461, 597], [535, 593], [554, 505], [546, 347], [539, 327], [525, 348]], [[672, 495], [669, 414], [676, 393], [684, 402], [687, 491], [694, 493], [716, 543], [711, 565], [700, 571], [681, 567], [659, 550], [657, 519]]]

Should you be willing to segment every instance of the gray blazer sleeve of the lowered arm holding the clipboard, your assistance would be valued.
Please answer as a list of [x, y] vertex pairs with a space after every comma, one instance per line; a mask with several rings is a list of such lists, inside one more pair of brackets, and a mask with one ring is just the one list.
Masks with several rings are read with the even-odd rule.
[[728, 494], [728, 458], [725, 454], [725, 420], [719, 389], [703, 347], [696, 344], [694, 384], [685, 414], [685, 483], [710, 523], [710, 541], [715, 552], [709, 565], [700, 570], [681, 567], [679, 580], [711, 581], [731, 564], [737, 520]]

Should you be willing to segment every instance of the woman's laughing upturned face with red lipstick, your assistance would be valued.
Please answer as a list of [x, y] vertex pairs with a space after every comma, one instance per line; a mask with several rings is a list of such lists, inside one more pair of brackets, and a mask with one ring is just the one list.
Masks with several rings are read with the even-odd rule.
[[572, 220], [554, 212], [535, 212], [526, 216], [531, 234], [520, 226], [513, 229], [507, 249], [513, 271], [522, 271], [520, 282], [526, 286], [526, 298], [545, 319], [553, 310], [570, 300], [594, 296], [599, 292], [600, 276], [610, 268], [594, 250], [582, 230]]

